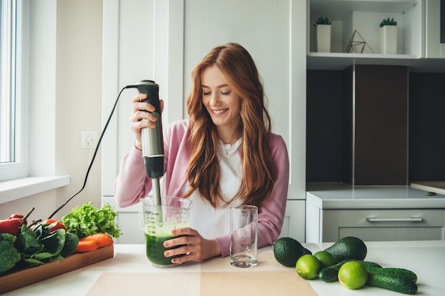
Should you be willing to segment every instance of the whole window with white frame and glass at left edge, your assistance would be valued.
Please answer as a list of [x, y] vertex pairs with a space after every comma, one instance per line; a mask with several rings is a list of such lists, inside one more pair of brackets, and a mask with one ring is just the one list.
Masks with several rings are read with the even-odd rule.
[[1, 104], [0, 181], [28, 175], [26, 145], [26, 102], [23, 96], [24, 40], [23, 0], [2, 0], [1, 22]]

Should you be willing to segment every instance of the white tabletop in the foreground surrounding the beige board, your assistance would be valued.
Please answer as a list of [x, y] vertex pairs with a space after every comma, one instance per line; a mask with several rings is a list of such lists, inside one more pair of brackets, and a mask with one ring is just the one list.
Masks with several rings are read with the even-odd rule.
[[[385, 241], [385, 242], [365, 242], [368, 246], [368, 256], [366, 261], [379, 263], [383, 267], [407, 268], [417, 273], [419, 280], [417, 282], [418, 295], [445, 295], [445, 284], [443, 275], [445, 274], [445, 241]], [[313, 253], [321, 251], [332, 243], [304, 243], [304, 246]], [[29, 285], [21, 289], [4, 294], [5, 296], [31, 296], [31, 295], [64, 295], [81, 296], [87, 295], [88, 291], [97, 285], [96, 281], [104, 273], [156, 273], [156, 276], [169, 278], [172, 273], [200, 273], [201, 270], [213, 266], [214, 271], [223, 272], [275, 272], [281, 270], [294, 270], [286, 268], [276, 261], [262, 264], [264, 258], [273, 256], [272, 248], [265, 247], [259, 250], [259, 265], [255, 268], [243, 269], [234, 268], [229, 264], [229, 258], [214, 258], [209, 261], [185, 263], [176, 268], [154, 268], [151, 266], [145, 256], [144, 245], [125, 245], [116, 244], [114, 246], [114, 258], [107, 259], [100, 263], [89, 265], [85, 268], [73, 270], [70, 273], [58, 275], [55, 278], [44, 280], [40, 283]], [[263, 259], [262, 259], [263, 258]], [[259, 274], [260, 275], [260, 274]], [[295, 274], [295, 276], [298, 276]], [[131, 280], [130, 280], [131, 281]], [[199, 280], [196, 280], [199, 282]], [[365, 286], [360, 290], [348, 290], [340, 283], [324, 283], [321, 280], [308, 281], [313, 290], [319, 295], [379, 295], [396, 296], [403, 295], [397, 292], [384, 290], [377, 287]], [[107, 286], [102, 294], [114, 295], [113, 291], [119, 283]], [[149, 275], [146, 277], [146, 295], [149, 295], [150, 286], [156, 283], [150, 283]], [[174, 285], [174, 283], [172, 283]], [[190, 283], [198, 285], [199, 283]], [[274, 285], [274, 283], [271, 283]], [[229, 284], [227, 292], [231, 288]], [[178, 294], [188, 295], [183, 289], [178, 288]], [[135, 292], [134, 290], [128, 291]], [[294, 294], [295, 292], [295, 294]], [[289, 295], [299, 295], [294, 291]], [[233, 295], [233, 293], [230, 293]], [[250, 295], [250, 294], [249, 294]], [[173, 296], [173, 295], [166, 295]], [[260, 296], [260, 295], [255, 295]], [[286, 296], [286, 295], [280, 295]]]

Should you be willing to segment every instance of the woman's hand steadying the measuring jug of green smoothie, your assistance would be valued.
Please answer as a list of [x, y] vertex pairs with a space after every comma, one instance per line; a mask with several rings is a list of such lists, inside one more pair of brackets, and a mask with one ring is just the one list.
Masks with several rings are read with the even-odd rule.
[[204, 239], [195, 229], [188, 227], [173, 229], [171, 234], [180, 237], [164, 241], [163, 246], [166, 248], [173, 246], [180, 247], [165, 251], [163, 255], [172, 257], [187, 254], [186, 256], [171, 259], [171, 263], [181, 263], [191, 260], [203, 261], [221, 254], [220, 247], [214, 239]]

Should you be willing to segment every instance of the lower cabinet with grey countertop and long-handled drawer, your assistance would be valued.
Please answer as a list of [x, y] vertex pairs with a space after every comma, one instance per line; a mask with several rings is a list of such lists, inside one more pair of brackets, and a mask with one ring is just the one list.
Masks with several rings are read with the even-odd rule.
[[411, 187], [309, 185], [306, 242], [443, 240], [445, 195]]

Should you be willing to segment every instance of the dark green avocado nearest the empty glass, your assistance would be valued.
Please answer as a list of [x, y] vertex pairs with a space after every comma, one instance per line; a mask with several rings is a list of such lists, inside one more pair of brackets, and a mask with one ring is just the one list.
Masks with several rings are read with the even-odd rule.
[[287, 267], [294, 267], [298, 258], [304, 254], [304, 247], [299, 241], [290, 237], [282, 237], [274, 243], [274, 256], [277, 261]]

